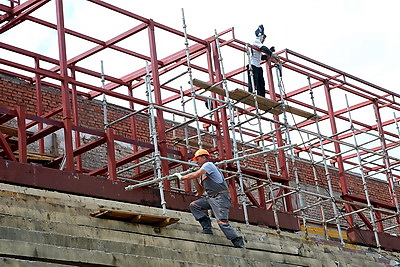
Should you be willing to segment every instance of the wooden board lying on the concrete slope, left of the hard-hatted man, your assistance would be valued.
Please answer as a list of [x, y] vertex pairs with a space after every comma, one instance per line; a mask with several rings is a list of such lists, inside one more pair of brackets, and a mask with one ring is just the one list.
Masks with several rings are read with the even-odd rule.
[[179, 218], [109, 209], [100, 209], [91, 213], [90, 216], [102, 219], [141, 223], [156, 227], [168, 226], [179, 221]]

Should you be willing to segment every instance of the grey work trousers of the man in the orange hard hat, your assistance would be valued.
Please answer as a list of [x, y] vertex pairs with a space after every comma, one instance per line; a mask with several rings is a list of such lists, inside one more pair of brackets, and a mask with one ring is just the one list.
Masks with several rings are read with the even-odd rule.
[[196, 220], [208, 217], [203, 210], [211, 209], [217, 219], [219, 228], [225, 234], [227, 239], [232, 240], [238, 235], [228, 221], [230, 205], [231, 199], [229, 193], [222, 193], [213, 198], [200, 198], [190, 203], [189, 207]]

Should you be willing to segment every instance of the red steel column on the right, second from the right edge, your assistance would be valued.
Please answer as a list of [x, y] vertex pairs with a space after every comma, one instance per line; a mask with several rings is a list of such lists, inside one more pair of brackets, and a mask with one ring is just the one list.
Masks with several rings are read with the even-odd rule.
[[[328, 105], [329, 121], [330, 121], [331, 128], [332, 128], [332, 135], [333, 135], [332, 139], [339, 141], [339, 138], [337, 136], [336, 121], [335, 121], [335, 116], [334, 116], [335, 111], [333, 109], [331, 91], [329, 88], [328, 81], [324, 81], [324, 90], [325, 90], [326, 103]], [[333, 145], [335, 147], [335, 153], [338, 154], [336, 156], [336, 160], [337, 160], [338, 169], [339, 169], [340, 189], [341, 189], [343, 195], [347, 195], [348, 189], [347, 189], [347, 183], [346, 183], [346, 177], [345, 177], [345, 171], [344, 171], [344, 165], [343, 165], [343, 158], [342, 158], [342, 155], [340, 154], [341, 153], [340, 145], [338, 142], [334, 142]], [[344, 207], [346, 209], [346, 213], [351, 212], [351, 207], [349, 204], [344, 203]], [[354, 221], [353, 221], [352, 215], [348, 215], [346, 217], [346, 220], [347, 220], [349, 227], [354, 226]]]

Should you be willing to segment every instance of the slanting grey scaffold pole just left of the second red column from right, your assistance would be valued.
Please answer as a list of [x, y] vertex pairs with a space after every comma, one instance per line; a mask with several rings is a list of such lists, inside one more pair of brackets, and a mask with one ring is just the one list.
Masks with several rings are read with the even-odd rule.
[[[329, 196], [330, 196], [330, 199], [331, 199], [331, 202], [332, 202], [332, 209], [333, 209], [333, 213], [334, 213], [335, 220], [336, 220], [336, 227], [337, 227], [339, 238], [340, 238], [340, 244], [342, 246], [344, 246], [342, 228], [340, 226], [339, 212], [338, 212], [338, 208], [336, 206], [335, 195], [333, 193], [331, 175], [329, 173], [328, 164], [326, 162], [326, 154], [325, 154], [325, 149], [324, 149], [324, 143], [322, 141], [321, 129], [319, 128], [319, 122], [318, 122], [318, 116], [317, 116], [317, 108], [315, 106], [314, 93], [313, 93], [312, 86], [311, 86], [310, 76], [308, 76], [307, 79], [308, 79], [308, 88], [309, 88], [309, 91], [310, 91], [311, 101], [312, 101], [312, 105], [313, 105], [314, 116], [316, 118], [315, 126], [317, 127], [317, 136], [318, 136], [318, 140], [319, 140], [319, 146], [320, 146], [320, 149], [321, 149], [322, 161], [324, 163], [325, 178], [326, 178], [326, 181], [327, 181], [327, 184], [328, 184]], [[309, 153], [309, 154], [312, 156], [312, 153]], [[314, 160], [313, 160], [313, 163], [314, 163]], [[326, 230], [326, 232], [327, 232], [327, 230]], [[327, 235], [327, 233], [325, 235]]]

